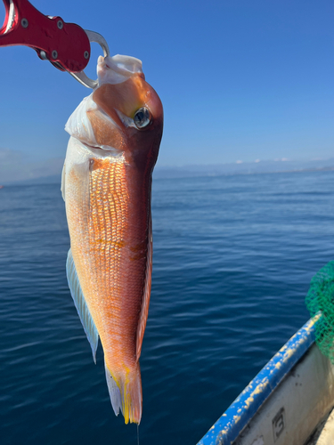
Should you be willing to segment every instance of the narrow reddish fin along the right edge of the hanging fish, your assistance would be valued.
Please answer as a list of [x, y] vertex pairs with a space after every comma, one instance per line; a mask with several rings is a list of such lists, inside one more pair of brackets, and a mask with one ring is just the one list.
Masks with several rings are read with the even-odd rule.
[[150, 215], [149, 221], [149, 242], [147, 246], [147, 259], [146, 259], [146, 274], [145, 274], [145, 286], [143, 288], [143, 303], [141, 315], [139, 318], [138, 328], [137, 328], [137, 339], [136, 339], [136, 359], [139, 360], [142, 352], [143, 344], [143, 333], [146, 328], [146, 321], [149, 315], [149, 305], [151, 296], [151, 275], [152, 275], [152, 256], [153, 256], [153, 239], [152, 239], [152, 220]]

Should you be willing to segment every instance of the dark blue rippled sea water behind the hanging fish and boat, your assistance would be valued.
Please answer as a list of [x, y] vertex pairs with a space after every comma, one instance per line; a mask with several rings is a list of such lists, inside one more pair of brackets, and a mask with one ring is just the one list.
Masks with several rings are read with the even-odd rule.
[[[308, 313], [334, 254], [334, 172], [153, 182], [140, 443], [195, 444]], [[60, 186], [0, 190], [0, 443], [136, 444], [69, 295]]]

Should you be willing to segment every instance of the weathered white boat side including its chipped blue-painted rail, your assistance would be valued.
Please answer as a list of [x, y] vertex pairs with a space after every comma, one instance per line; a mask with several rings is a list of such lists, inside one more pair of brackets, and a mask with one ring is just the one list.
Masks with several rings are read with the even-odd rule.
[[325, 437], [329, 427], [321, 441], [314, 439], [334, 407], [334, 366], [314, 344], [319, 318], [308, 320], [268, 361], [198, 445], [334, 443], [332, 433]]

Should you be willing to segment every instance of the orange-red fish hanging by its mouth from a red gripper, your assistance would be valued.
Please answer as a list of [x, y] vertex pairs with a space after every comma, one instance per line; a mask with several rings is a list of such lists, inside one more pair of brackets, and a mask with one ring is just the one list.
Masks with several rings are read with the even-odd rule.
[[139, 425], [139, 358], [151, 295], [151, 182], [163, 107], [138, 59], [100, 56], [97, 74], [98, 86], [65, 126], [66, 270], [95, 362], [100, 338], [112, 408], [126, 424]]

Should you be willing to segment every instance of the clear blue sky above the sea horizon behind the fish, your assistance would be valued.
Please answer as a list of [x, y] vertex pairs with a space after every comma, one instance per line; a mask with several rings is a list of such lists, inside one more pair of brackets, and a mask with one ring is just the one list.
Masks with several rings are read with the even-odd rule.
[[[160, 166], [334, 156], [332, 0], [32, 3], [143, 61], [165, 109]], [[0, 149], [63, 158], [89, 90], [29, 48], [0, 53]]]

